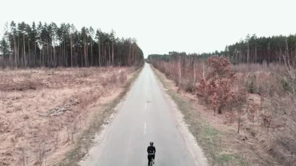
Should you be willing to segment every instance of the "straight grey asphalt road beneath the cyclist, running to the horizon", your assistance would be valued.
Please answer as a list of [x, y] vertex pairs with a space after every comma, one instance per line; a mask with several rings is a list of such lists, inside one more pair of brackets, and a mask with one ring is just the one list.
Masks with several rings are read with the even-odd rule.
[[[150, 141], [156, 148], [155, 166], [203, 166], [188, 150], [178, 127], [172, 101], [146, 64], [118, 113], [90, 150], [82, 166], [147, 166]], [[187, 144], [187, 145], [186, 145]], [[190, 143], [189, 143], [189, 146]], [[193, 153], [199, 153], [199, 151]], [[198, 154], [202, 155], [202, 154]]]

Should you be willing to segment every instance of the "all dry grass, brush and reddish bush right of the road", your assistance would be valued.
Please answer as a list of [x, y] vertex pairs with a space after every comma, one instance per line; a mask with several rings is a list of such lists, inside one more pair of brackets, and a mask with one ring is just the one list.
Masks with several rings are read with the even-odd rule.
[[173, 91], [168, 92], [212, 165], [296, 162], [296, 71], [291, 51], [295, 45], [289, 37], [279, 36], [283, 40], [272, 48], [277, 50], [273, 58], [268, 51], [252, 50], [251, 56], [250, 42], [243, 42], [247, 50], [235, 50], [230, 56], [227, 52], [209, 58], [185, 52], [148, 56], [147, 61], [172, 80], [168, 89]]

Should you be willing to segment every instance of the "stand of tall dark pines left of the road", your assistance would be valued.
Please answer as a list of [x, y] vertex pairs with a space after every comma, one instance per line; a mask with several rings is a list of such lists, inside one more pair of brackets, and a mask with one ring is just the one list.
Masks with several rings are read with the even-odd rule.
[[73, 24], [52, 22], [31, 25], [11, 21], [0, 40], [2, 67], [132, 66], [144, 62], [135, 38], [92, 27], [77, 30]]

